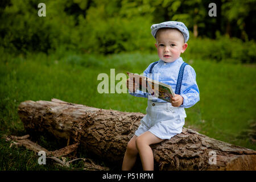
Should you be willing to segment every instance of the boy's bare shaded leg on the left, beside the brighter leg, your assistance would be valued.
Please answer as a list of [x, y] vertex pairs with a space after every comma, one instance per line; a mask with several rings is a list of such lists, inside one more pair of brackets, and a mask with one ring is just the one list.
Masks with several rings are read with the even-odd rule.
[[136, 158], [138, 154], [138, 150], [135, 143], [136, 139], [137, 139], [137, 136], [134, 135], [133, 138], [131, 138], [127, 144], [125, 156], [123, 157], [123, 164], [122, 164], [123, 171], [131, 170], [131, 168], [133, 168], [136, 162]]

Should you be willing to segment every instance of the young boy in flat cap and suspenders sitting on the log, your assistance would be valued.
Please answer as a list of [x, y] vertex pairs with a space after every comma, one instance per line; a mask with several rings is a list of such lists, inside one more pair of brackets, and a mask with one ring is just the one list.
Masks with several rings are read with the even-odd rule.
[[[127, 144], [122, 170], [130, 170], [134, 166], [138, 153], [143, 170], [154, 170], [154, 156], [150, 145], [181, 133], [187, 117], [184, 108], [199, 101], [195, 70], [190, 65], [184, 67], [184, 61], [180, 57], [188, 46], [189, 32], [185, 24], [174, 21], [153, 24], [151, 34], [156, 39], [155, 47], [160, 60], [151, 63], [143, 74], [147, 77], [152, 75], [153, 80], [157, 74], [158, 81], [171, 85], [176, 94], [171, 103], [166, 102], [136, 90], [138, 85], [129, 84], [131, 80], [127, 80], [129, 93], [137, 97], [147, 97], [148, 105], [147, 114], [141, 119], [141, 125]], [[184, 68], [183, 78], [179, 77], [181, 84], [177, 84], [181, 67]]]

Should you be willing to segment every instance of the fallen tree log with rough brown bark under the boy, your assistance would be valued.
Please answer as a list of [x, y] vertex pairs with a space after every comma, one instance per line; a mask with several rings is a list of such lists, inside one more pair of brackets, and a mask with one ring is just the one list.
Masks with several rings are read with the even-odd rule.
[[[97, 109], [56, 99], [24, 101], [18, 114], [28, 133], [46, 132], [79, 143], [101, 159], [121, 164], [142, 113]], [[191, 129], [151, 146], [159, 170], [256, 170], [256, 151]]]

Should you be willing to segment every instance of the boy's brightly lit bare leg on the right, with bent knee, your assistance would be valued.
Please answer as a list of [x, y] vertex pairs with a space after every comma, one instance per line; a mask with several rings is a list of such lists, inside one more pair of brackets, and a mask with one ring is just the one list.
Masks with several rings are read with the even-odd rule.
[[139, 135], [136, 139], [136, 146], [141, 157], [142, 167], [144, 171], [154, 170], [154, 156], [150, 144], [162, 142], [163, 139], [156, 137], [150, 131], [146, 131]]

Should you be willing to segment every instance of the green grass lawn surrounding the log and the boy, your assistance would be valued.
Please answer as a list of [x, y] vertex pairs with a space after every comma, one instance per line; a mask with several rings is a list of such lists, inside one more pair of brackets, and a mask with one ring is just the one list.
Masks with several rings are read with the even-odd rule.
[[[58, 98], [102, 109], [146, 113], [146, 98], [127, 93], [98, 93], [97, 86], [101, 81], [97, 76], [100, 73], [110, 75], [110, 68], [115, 69], [115, 75], [126, 71], [142, 73], [155, 60], [158, 60], [157, 55], [139, 53], [109, 56], [70, 52], [27, 57], [3, 55], [0, 61], [0, 134], [26, 134], [17, 114], [20, 102], [26, 100]], [[241, 137], [256, 118], [255, 65], [185, 61], [195, 69], [200, 90], [200, 101], [186, 109], [185, 127], [256, 150], [256, 144], [249, 137]], [[0, 170], [43, 169], [36, 166], [38, 156], [24, 148], [9, 146], [1, 140]], [[49, 166], [44, 169], [56, 168]]]

